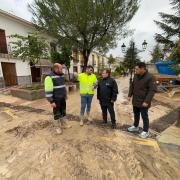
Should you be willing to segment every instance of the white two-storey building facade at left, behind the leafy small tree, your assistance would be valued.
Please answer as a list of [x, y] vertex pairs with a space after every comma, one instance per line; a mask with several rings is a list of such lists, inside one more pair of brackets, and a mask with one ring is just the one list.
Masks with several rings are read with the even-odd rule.
[[[32, 68], [28, 62], [23, 62], [21, 59], [14, 59], [9, 56], [11, 51], [10, 42], [13, 40], [9, 36], [14, 34], [28, 36], [29, 33], [33, 32], [36, 32], [36, 29], [32, 23], [0, 10], [0, 88], [31, 84], [32, 75], [38, 76], [40, 71], [42, 71], [42, 68]], [[53, 41], [53, 38], [47, 35], [42, 36], [49, 43]], [[46, 63], [45, 68], [47, 69], [47, 67], [49, 65]]]

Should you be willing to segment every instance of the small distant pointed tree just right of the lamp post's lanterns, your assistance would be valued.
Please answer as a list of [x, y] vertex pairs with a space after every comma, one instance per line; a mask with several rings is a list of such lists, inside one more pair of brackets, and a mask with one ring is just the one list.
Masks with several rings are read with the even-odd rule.
[[154, 46], [151, 56], [151, 63], [156, 63], [159, 59], [163, 58], [163, 51], [158, 43]]

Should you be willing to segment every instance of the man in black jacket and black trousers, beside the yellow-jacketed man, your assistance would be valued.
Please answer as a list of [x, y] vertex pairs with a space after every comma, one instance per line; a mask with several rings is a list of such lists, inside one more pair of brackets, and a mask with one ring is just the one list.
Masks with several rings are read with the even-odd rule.
[[102, 79], [98, 82], [97, 99], [102, 109], [103, 122], [107, 123], [107, 110], [111, 116], [112, 128], [116, 128], [116, 119], [114, 112], [114, 102], [117, 99], [118, 86], [114, 79], [110, 77], [110, 71], [102, 71]]

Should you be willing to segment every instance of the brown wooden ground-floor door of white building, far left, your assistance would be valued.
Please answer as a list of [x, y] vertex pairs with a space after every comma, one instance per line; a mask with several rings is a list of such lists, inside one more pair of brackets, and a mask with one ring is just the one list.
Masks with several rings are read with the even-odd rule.
[[1, 62], [4, 81], [6, 86], [17, 85], [17, 74], [15, 63]]

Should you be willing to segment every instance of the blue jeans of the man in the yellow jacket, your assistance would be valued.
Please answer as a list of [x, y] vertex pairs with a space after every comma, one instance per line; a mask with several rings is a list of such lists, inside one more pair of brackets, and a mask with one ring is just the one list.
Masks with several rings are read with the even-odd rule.
[[91, 102], [92, 102], [93, 95], [81, 95], [81, 115], [83, 116], [85, 110], [87, 114], [91, 111]]

